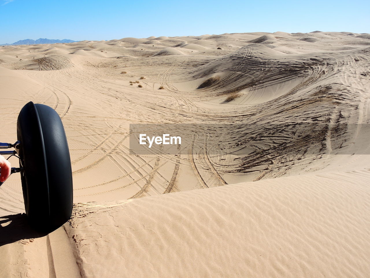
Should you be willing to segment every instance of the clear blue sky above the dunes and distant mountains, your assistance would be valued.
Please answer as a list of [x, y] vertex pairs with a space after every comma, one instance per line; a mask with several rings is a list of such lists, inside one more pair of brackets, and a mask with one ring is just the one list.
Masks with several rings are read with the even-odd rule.
[[0, 43], [244, 32], [370, 33], [370, 1], [0, 0]]

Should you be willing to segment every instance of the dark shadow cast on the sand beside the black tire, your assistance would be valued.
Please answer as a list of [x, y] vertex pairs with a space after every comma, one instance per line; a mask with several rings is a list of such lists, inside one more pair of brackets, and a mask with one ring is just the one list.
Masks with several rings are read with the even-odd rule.
[[0, 216], [0, 246], [21, 239], [40, 238], [46, 235], [47, 233], [35, 231], [28, 224], [26, 214]]

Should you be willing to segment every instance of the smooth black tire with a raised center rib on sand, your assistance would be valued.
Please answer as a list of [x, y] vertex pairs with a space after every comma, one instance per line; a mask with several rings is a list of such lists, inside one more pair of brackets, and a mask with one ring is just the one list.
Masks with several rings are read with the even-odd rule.
[[30, 224], [51, 232], [71, 217], [71, 159], [62, 121], [47, 105], [28, 102], [17, 121], [24, 206]]

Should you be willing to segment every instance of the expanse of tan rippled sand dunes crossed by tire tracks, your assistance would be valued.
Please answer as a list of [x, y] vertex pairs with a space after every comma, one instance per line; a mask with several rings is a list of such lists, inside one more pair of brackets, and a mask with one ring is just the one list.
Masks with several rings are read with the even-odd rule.
[[[1, 142], [25, 103], [53, 107], [76, 203], [40, 236], [12, 175], [0, 277], [368, 277], [369, 36], [0, 47]], [[130, 155], [131, 123], [199, 127], [193, 155]]]

